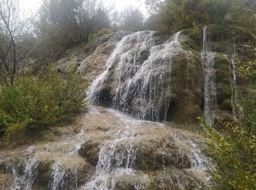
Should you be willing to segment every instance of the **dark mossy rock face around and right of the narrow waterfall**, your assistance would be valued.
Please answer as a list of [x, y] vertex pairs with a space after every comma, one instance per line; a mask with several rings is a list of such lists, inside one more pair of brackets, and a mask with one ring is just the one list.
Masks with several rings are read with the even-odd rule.
[[[256, 37], [243, 28], [235, 28], [233, 26], [216, 26], [211, 25], [205, 28], [205, 31], [194, 34], [192, 29], [182, 31], [186, 35], [184, 46], [193, 50], [202, 50], [206, 47], [208, 53], [214, 55], [213, 69], [215, 101], [214, 101], [214, 117], [219, 116], [226, 121], [232, 121], [238, 115], [236, 113], [239, 107], [236, 101], [236, 86], [246, 86], [244, 79], [236, 75], [236, 63], [234, 58], [242, 60], [255, 59], [250, 53], [246, 53], [244, 49], [245, 42], [255, 42]], [[202, 38], [204, 34], [206, 37]], [[202, 41], [203, 39], [203, 41]], [[202, 47], [203, 46], [203, 47]], [[201, 48], [197, 48], [201, 47]], [[205, 78], [206, 81], [206, 78]], [[206, 86], [206, 84], [205, 84]], [[205, 92], [204, 92], [205, 93]], [[202, 99], [202, 110], [205, 111], [206, 99]]]

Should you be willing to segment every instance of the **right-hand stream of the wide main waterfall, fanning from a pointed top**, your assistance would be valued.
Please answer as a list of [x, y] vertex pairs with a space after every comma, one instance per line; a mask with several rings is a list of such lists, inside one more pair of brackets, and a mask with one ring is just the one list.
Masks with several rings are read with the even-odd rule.
[[[136, 118], [166, 121], [170, 99], [171, 59], [174, 47], [179, 45], [179, 34], [175, 34], [172, 40], [163, 45], [151, 47], [148, 58], [141, 64], [138, 60], [141, 53], [147, 50], [148, 41], [142, 43], [132, 61], [129, 61], [131, 52], [122, 55], [116, 69], [119, 85], [113, 100], [118, 110], [131, 113], [130, 105], [136, 104], [136, 110], [132, 111]], [[131, 62], [132, 64], [128, 64]], [[130, 101], [132, 96], [137, 96], [135, 102]]]

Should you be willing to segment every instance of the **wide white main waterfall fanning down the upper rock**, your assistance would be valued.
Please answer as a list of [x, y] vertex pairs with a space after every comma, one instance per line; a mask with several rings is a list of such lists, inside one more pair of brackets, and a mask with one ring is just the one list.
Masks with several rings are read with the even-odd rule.
[[[139, 31], [124, 37], [94, 83], [89, 97], [97, 103], [100, 88], [108, 75], [114, 75], [116, 88], [112, 104], [123, 113], [142, 120], [166, 121], [170, 104], [172, 56], [181, 50], [180, 32], [162, 45], [155, 45], [154, 31]], [[110, 68], [114, 72], [110, 72]]]

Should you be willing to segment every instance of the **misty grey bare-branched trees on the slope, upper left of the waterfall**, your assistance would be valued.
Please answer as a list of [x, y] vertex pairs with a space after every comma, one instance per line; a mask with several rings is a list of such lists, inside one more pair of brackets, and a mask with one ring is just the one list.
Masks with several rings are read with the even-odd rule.
[[[66, 40], [87, 41], [90, 34], [110, 26], [108, 10], [98, 0], [46, 0], [35, 23], [40, 37], [52, 35]], [[59, 31], [59, 32], [58, 32]]]

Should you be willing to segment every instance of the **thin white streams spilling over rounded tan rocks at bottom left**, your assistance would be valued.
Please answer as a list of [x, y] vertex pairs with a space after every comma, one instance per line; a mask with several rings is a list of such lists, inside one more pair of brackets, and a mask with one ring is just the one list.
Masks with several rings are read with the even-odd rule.
[[57, 189], [76, 189], [77, 187], [77, 172], [78, 167], [74, 164], [74, 167], [67, 168], [67, 162], [69, 161], [69, 156], [78, 155], [78, 151], [80, 149], [80, 145], [83, 142], [86, 142], [86, 138], [84, 137], [84, 132], [81, 132], [74, 137], [64, 138], [63, 142], [53, 142], [43, 148], [43, 151], [35, 150], [35, 146], [32, 145], [27, 148], [24, 153], [24, 157], [29, 156], [29, 159], [25, 162], [24, 172], [17, 172], [16, 166], [13, 165], [10, 170], [12, 170], [12, 175], [15, 180], [12, 185], [12, 190], [31, 190], [34, 186], [34, 180], [37, 178], [39, 161], [38, 157], [47, 153], [54, 153], [55, 151], [59, 151], [58, 148], [61, 145], [72, 145], [69, 149], [67, 148], [67, 155], [58, 158], [55, 160], [52, 166], [51, 179], [48, 183], [48, 189], [57, 190]]

